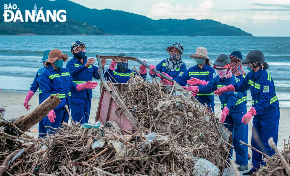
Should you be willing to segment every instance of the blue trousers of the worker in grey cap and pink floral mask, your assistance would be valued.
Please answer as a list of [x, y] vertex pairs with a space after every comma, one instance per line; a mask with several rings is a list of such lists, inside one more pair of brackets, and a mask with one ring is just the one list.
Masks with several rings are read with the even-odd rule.
[[[224, 124], [230, 132], [233, 133], [233, 140], [235, 141], [236, 164], [248, 165], [248, 147], [246, 145], [239, 145], [240, 140], [248, 143], [249, 126], [242, 123], [242, 117], [247, 113], [247, 108], [243, 111], [231, 114], [225, 118]], [[230, 125], [228, 125], [230, 124]], [[233, 148], [231, 148], [229, 158], [233, 156]]]

